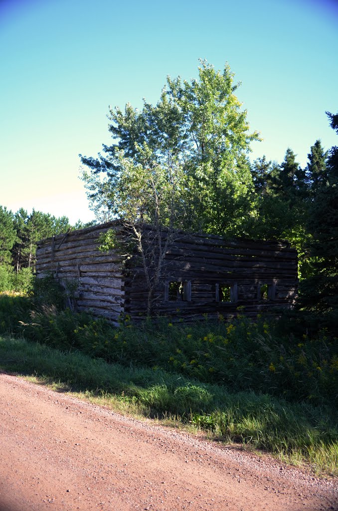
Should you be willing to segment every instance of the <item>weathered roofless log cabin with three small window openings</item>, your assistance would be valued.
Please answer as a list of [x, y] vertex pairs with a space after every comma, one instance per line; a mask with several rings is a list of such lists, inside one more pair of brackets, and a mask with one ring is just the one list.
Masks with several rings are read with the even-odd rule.
[[[41, 241], [37, 277], [53, 274], [69, 291], [75, 310], [116, 321], [147, 315], [148, 289], [137, 255], [99, 250], [99, 236], [119, 221], [70, 231]], [[168, 245], [153, 301], [153, 315], [175, 318], [231, 317], [238, 307], [255, 316], [292, 308], [297, 292], [297, 252], [286, 241], [225, 240], [177, 233]], [[69, 303], [70, 303], [69, 301]]]

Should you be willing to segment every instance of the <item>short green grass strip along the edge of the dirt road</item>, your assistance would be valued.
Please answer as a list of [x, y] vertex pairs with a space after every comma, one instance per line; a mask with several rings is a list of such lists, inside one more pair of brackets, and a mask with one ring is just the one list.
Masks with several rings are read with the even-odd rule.
[[119, 411], [187, 425], [338, 475], [338, 426], [329, 407], [234, 392], [160, 368], [109, 364], [78, 351], [0, 337], [0, 367], [69, 388]]

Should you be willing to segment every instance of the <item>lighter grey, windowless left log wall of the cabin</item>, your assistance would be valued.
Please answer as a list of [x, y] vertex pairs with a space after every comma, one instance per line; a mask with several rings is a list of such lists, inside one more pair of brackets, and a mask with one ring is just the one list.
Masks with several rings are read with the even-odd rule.
[[97, 316], [116, 321], [124, 312], [123, 257], [110, 250], [100, 252], [98, 238], [116, 222], [88, 227], [39, 243], [36, 274], [53, 274], [69, 292], [75, 310], [91, 309]]

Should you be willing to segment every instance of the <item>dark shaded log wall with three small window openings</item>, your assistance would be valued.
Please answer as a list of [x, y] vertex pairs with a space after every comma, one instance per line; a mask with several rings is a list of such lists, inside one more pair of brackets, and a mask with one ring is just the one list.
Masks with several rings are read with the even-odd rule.
[[[168, 283], [190, 282], [191, 299], [168, 300]], [[291, 308], [297, 293], [297, 252], [288, 242], [234, 240], [216, 236], [180, 237], [167, 251], [165, 268], [154, 300], [154, 314], [186, 319], [230, 317], [238, 307], [258, 312]], [[184, 285], [184, 284], [183, 284]], [[261, 298], [259, 288], [269, 286]], [[232, 289], [234, 301], [216, 301], [218, 288]], [[133, 318], [146, 314], [147, 289], [142, 268], [134, 268], [126, 282], [125, 311]]]

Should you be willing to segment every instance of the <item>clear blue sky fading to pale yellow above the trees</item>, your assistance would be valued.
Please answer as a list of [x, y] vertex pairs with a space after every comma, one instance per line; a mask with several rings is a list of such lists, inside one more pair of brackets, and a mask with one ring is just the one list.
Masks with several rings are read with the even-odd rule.
[[0, 0], [0, 204], [88, 221], [79, 153], [109, 143], [108, 105], [156, 103], [198, 58], [230, 64], [263, 142], [251, 158], [301, 165], [338, 145], [336, 0]]

